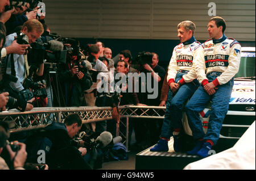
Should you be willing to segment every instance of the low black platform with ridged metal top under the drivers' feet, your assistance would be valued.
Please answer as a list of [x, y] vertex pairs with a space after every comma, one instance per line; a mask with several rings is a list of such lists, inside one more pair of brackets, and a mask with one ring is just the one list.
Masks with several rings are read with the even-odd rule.
[[168, 152], [152, 152], [150, 148], [141, 151], [135, 156], [136, 170], [181, 170], [191, 162], [201, 159], [197, 155], [188, 155], [174, 151], [174, 139], [168, 141]]

